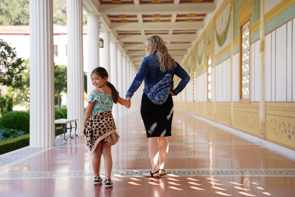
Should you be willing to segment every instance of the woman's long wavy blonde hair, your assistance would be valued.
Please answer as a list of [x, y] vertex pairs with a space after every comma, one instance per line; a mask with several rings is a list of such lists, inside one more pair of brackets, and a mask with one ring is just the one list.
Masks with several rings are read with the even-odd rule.
[[158, 35], [153, 35], [147, 39], [146, 57], [155, 53], [156, 58], [159, 61], [160, 70], [166, 72], [167, 70], [173, 70], [176, 67], [176, 62], [172, 58], [167, 46], [163, 39]]

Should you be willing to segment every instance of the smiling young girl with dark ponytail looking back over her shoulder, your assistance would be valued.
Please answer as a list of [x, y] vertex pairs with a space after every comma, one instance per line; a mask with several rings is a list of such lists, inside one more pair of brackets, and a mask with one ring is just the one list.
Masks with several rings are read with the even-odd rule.
[[96, 87], [88, 98], [88, 105], [84, 117], [83, 134], [87, 139], [87, 146], [91, 151], [94, 171], [94, 185], [100, 185], [100, 158], [104, 156], [105, 181], [104, 187], [112, 187], [112, 155], [111, 146], [119, 135], [112, 116], [113, 103], [131, 106], [131, 102], [119, 96], [116, 88], [108, 82], [108, 72], [103, 67], [97, 67], [91, 73], [92, 84]]

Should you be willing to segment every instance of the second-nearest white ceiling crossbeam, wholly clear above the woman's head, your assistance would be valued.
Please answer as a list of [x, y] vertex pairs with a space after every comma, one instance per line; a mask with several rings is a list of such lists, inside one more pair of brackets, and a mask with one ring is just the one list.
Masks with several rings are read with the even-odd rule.
[[202, 29], [205, 23], [203, 21], [196, 22], [112, 22], [110, 29], [129, 31], [129, 30], [195, 30]]

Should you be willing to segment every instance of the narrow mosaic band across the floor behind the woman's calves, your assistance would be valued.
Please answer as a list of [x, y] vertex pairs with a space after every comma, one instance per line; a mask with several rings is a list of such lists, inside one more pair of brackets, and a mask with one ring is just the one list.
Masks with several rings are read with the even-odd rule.
[[[261, 145], [254, 142], [169, 142], [169, 146], [191, 146], [191, 145]], [[148, 146], [148, 143], [117, 143], [120, 147], [141, 147]], [[63, 144], [56, 147], [86, 147], [86, 144]]]

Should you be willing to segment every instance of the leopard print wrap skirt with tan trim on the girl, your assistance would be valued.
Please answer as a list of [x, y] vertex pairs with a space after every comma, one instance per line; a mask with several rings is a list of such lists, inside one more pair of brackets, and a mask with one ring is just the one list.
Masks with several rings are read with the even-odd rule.
[[91, 155], [101, 140], [104, 140], [104, 143], [108, 146], [112, 146], [117, 143], [119, 138], [112, 111], [95, 114], [88, 118], [86, 123], [86, 140]]

